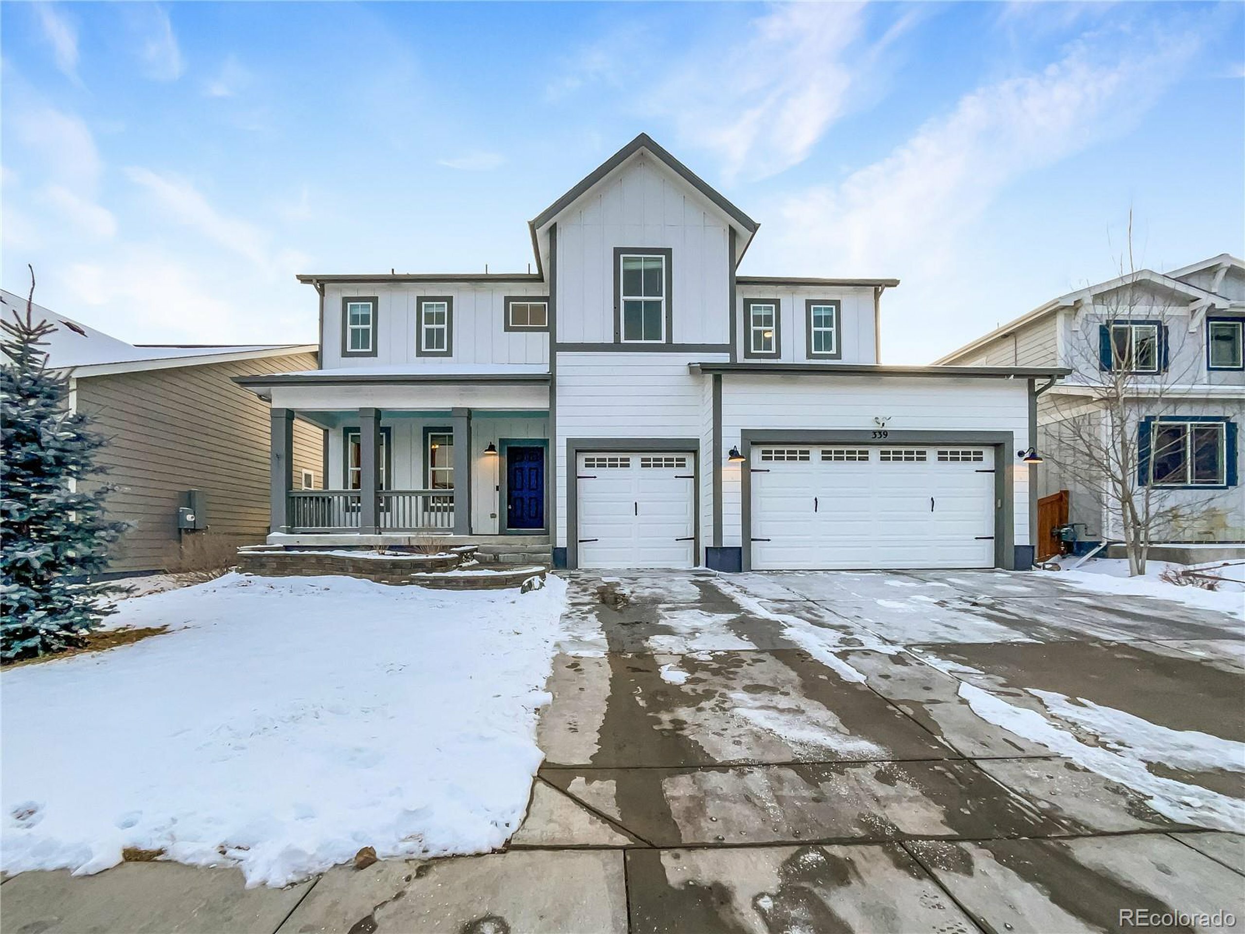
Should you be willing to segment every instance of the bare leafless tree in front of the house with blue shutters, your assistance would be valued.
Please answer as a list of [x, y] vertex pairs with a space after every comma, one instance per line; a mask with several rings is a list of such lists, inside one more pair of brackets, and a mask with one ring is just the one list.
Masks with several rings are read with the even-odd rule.
[[1043, 455], [1103, 507], [1102, 534], [1124, 543], [1137, 575], [1153, 542], [1206, 537], [1223, 521], [1228, 438], [1223, 421], [1198, 421], [1206, 309], [1135, 268], [1132, 220], [1114, 283], [1073, 309], [1073, 372], [1045, 401]]

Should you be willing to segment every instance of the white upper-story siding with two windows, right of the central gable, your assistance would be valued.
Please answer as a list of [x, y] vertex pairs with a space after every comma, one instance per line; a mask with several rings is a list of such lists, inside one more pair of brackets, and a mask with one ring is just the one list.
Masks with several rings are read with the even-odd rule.
[[[749, 299], [778, 299], [778, 357], [747, 357], [749, 362], [771, 360], [783, 364], [875, 364], [878, 362], [876, 330], [874, 328], [873, 288], [817, 286], [817, 285], [756, 285], [741, 284], [736, 289], [737, 334], [740, 360], [746, 359], [748, 346], [747, 301]], [[808, 355], [808, 300], [839, 303], [839, 346], [842, 357], [827, 359]]]

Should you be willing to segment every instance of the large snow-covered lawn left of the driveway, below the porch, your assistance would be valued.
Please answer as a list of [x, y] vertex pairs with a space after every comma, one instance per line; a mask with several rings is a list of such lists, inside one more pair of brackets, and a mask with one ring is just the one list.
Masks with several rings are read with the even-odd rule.
[[229, 574], [123, 600], [171, 631], [4, 672], [0, 867], [97, 872], [123, 847], [284, 884], [518, 827], [565, 583], [433, 592]]

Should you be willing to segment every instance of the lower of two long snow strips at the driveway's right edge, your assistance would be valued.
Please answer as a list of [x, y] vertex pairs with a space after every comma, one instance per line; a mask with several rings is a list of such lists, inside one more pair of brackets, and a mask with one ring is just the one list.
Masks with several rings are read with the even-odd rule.
[[1216, 831], [1239, 831], [1245, 823], [1245, 802], [1196, 785], [1153, 775], [1142, 758], [1129, 755], [1132, 750], [1113, 751], [1086, 745], [1037, 711], [1017, 707], [971, 684], [960, 684], [960, 696], [982, 720], [1011, 730], [1084, 768], [1128, 786], [1145, 796], [1154, 811], [1172, 821]]

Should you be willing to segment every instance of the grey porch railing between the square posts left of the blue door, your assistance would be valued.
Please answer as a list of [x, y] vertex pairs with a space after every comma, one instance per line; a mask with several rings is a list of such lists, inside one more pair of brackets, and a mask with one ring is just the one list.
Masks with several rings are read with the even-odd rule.
[[[383, 489], [376, 496], [381, 532], [452, 532], [454, 491]], [[290, 532], [359, 532], [357, 489], [296, 489], [289, 494]]]

